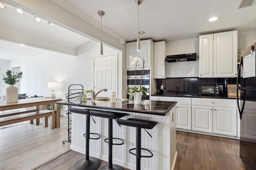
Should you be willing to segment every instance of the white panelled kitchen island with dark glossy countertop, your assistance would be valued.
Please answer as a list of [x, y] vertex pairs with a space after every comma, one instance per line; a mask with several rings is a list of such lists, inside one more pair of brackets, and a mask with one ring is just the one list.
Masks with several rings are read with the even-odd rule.
[[[142, 170], [172, 170], [176, 161], [176, 103], [150, 101], [149, 105], [134, 104], [130, 100], [117, 100], [118, 102], [92, 102], [90, 100], [76, 103], [56, 102], [60, 105], [82, 107], [89, 110], [128, 113], [122, 119], [136, 118], [157, 121], [158, 124], [147, 131], [142, 129], [142, 147], [153, 152], [152, 158], [141, 159]], [[142, 103], [144, 103], [142, 101]], [[101, 138], [90, 140], [90, 156], [108, 161], [108, 144], [104, 139], [108, 137], [108, 119], [93, 117], [96, 124], [91, 121], [90, 132], [99, 133]], [[72, 113], [72, 132], [70, 149], [85, 154], [85, 120], [86, 116]], [[135, 148], [136, 129], [134, 127], [119, 126], [113, 122], [113, 137], [124, 140], [124, 145], [113, 146], [113, 163], [136, 169], [136, 156], [129, 154], [129, 149]], [[147, 154], [142, 150], [142, 155]]]

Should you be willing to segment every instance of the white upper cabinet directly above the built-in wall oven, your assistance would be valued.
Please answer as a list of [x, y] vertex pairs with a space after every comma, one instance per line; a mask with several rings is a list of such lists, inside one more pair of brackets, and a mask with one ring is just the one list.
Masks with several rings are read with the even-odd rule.
[[[142, 57], [140, 57], [142, 56]], [[140, 51], [137, 51], [137, 42], [126, 43], [126, 68], [134, 68], [131, 66], [134, 57], [144, 59], [145, 67], [152, 67], [154, 62], [154, 42], [151, 39], [140, 41]], [[142, 67], [141, 63], [140, 66]]]

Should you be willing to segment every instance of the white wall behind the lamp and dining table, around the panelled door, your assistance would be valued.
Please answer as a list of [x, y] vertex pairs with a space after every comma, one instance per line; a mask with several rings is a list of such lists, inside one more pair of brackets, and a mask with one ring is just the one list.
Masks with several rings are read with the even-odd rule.
[[[103, 46], [104, 55], [117, 55], [118, 51], [110, 47]], [[48, 82], [58, 82], [59, 89], [54, 90], [56, 98], [66, 100], [65, 94], [71, 84], [82, 84], [84, 90], [93, 88], [93, 57], [100, 53], [100, 43], [90, 41], [78, 48], [77, 57], [50, 52], [44, 55], [36, 55], [23, 59], [3, 61], [1, 60], [1, 75], [10, 68], [11, 65], [21, 65], [23, 77], [21, 80], [21, 93], [28, 96], [49, 96], [51, 90], [47, 90]], [[122, 64], [122, 55], [118, 59]], [[3, 65], [3, 67], [2, 67]], [[120, 67], [119, 70], [122, 70]], [[119, 75], [120, 76], [120, 75]], [[8, 87], [4, 81], [0, 80], [1, 96], [5, 95]], [[122, 95], [122, 91], [119, 92]], [[66, 107], [62, 106], [61, 113], [65, 114]]]

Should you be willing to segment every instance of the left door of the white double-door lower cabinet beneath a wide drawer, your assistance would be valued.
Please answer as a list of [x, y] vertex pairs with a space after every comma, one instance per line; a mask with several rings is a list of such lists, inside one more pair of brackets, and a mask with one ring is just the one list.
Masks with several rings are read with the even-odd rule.
[[212, 107], [192, 106], [192, 130], [212, 133]]

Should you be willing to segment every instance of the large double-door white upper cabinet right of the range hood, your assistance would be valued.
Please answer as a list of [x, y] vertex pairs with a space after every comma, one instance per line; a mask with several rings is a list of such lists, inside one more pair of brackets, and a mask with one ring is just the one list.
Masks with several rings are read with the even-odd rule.
[[199, 36], [199, 77], [237, 76], [237, 30]]

